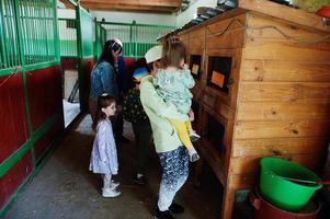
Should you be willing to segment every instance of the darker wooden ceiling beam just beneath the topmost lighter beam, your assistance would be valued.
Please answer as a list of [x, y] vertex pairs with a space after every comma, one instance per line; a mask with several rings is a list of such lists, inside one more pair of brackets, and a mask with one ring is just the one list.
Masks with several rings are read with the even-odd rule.
[[172, 13], [175, 9], [170, 7], [120, 5], [104, 3], [81, 3], [86, 9], [105, 11], [137, 11], [150, 13]]

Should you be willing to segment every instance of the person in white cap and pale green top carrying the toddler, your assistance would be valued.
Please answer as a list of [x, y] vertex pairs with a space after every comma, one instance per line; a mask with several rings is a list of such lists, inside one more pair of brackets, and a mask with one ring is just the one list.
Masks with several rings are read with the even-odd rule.
[[[177, 192], [183, 186], [189, 175], [189, 153], [182, 146], [175, 128], [167, 119], [187, 120], [186, 114], [179, 113], [171, 103], [160, 97], [153, 85], [153, 76], [159, 68], [162, 47], [155, 46], [146, 54], [151, 74], [143, 78], [140, 83], [140, 100], [149, 117], [156, 152], [162, 166], [158, 203], [155, 208], [156, 219], [173, 219], [173, 214], [182, 214], [184, 208], [173, 201]], [[190, 114], [193, 117], [193, 113]]]

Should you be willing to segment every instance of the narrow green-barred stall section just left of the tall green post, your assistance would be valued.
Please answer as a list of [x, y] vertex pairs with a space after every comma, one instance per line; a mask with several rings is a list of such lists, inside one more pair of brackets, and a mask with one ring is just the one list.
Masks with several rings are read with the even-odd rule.
[[58, 19], [61, 57], [77, 57], [77, 20]]

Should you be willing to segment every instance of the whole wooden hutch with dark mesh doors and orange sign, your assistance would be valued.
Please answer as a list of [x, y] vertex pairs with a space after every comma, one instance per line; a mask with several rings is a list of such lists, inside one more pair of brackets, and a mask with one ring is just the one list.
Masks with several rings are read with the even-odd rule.
[[317, 15], [240, 0], [178, 33], [195, 68], [198, 150], [224, 186], [223, 219], [231, 218], [235, 192], [257, 185], [260, 158], [321, 169], [330, 138], [329, 32]]

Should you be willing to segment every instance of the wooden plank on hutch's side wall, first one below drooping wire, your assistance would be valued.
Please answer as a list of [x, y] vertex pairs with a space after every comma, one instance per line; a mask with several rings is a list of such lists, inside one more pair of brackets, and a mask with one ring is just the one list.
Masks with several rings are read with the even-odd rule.
[[315, 44], [293, 44], [288, 41], [268, 38], [246, 38], [243, 59], [275, 59], [289, 61], [329, 62], [328, 46]]

